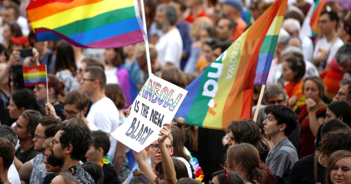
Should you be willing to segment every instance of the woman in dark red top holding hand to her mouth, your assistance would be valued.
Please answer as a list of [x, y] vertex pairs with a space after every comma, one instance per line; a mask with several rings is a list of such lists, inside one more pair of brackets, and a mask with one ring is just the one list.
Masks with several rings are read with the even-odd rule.
[[299, 158], [314, 153], [314, 139], [319, 126], [324, 122], [327, 104], [322, 100], [325, 86], [319, 77], [306, 77], [302, 86], [306, 98], [305, 104], [295, 110], [301, 127]]

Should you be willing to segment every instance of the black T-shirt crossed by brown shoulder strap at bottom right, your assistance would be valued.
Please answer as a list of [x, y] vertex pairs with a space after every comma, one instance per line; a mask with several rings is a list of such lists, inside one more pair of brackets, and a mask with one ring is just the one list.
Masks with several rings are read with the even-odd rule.
[[[294, 164], [290, 171], [287, 184], [316, 184], [314, 182], [314, 155], [303, 157]], [[317, 164], [317, 168], [318, 182], [324, 184], [326, 168], [319, 163]]]

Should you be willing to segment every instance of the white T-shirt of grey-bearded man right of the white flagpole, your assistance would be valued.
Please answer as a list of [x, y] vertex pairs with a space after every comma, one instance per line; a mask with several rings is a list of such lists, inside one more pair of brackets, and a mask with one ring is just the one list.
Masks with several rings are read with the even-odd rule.
[[173, 29], [163, 34], [156, 43], [157, 60], [161, 64], [172, 63], [180, 67], [183, 54], [183, 40], [178, 29]]

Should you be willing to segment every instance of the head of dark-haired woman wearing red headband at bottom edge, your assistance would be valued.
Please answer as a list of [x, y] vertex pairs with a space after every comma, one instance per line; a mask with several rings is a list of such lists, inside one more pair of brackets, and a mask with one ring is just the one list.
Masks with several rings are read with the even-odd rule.
[[[221, 165], [223, 167], [223, 165]], [[230, 171], [223, 167], [223, 170], [214, 172], [212, 180], [208, 184], [245, 184], [237, 172]]]

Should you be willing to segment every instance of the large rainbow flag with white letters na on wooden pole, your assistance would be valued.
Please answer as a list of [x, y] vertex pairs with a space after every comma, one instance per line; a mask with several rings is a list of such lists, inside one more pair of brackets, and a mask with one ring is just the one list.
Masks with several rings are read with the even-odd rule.
[[286, 6], [287, 0], [274, 2], [185, 88], [188, 94], [176, 118], [211, 129], [226, 129], [233, 120], [251, 119], [253, 86], [267, 81]]

